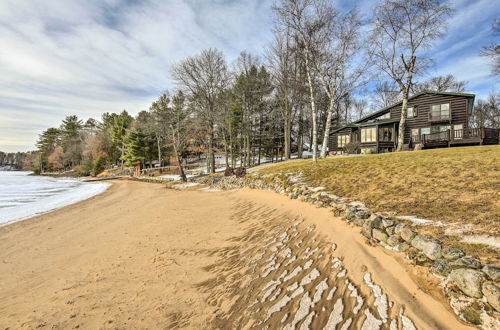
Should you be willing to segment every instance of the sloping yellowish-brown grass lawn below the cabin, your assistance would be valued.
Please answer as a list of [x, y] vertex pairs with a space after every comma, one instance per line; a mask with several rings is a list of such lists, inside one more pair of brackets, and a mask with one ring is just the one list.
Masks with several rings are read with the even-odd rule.
[[337, 157], [317, 164], [297, 160], [259, 171], [295, 172], [303, 173], [305, 183], [360, 200], [371, 211], [472, 224], [471, 234], [500, 236], [499, 145]]

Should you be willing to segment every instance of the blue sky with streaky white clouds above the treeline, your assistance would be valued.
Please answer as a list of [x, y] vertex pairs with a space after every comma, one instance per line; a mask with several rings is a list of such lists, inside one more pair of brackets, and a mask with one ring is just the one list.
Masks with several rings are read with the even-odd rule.
[[[368, 17], [377, 1], [332, 0]], [[0, 0], [0, 151], [35, 149], [68, 115], [146, 110], [175, 87], [170, 69], [206, 48], [229, 63], [272, 39], [273, 0]], [[486, 58], [500, 17], [494, 0], [456, 0], [429, 76], [453, 74], [485, 98], [498, 91]], [[498, 42], [498, 40], [496, 40]]]

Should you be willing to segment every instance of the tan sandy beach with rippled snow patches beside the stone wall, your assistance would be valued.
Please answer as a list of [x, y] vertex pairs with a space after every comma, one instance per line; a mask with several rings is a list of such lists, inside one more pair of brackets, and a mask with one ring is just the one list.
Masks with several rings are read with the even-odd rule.
[[273, 192], [119, 181], [0, 228], [0, 327], [467, 329], [437, 279]]

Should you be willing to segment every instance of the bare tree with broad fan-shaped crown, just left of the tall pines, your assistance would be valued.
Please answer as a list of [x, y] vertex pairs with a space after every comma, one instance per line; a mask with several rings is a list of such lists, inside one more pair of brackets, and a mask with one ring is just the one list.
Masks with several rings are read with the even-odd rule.
[[222, 117], [217, 113], [217, 101], [230, 81], [224, 55], [216, 49], [204, 50], [175, 65], [172, 74], [196, 105], [199, 119], [207, 129], [207, 171], [215, 173], [215, 128], [217, 119]]

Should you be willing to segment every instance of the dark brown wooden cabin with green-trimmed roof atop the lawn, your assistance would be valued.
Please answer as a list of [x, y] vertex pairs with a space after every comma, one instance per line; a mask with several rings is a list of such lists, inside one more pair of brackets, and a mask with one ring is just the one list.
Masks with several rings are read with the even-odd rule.
[[[498, 144], [499, 129], [469, 127], [474, 98], [474, 94], [433, 91], [410, 97], [403, 149]], [[333, 130], [329, 139], [330, 152], [367, 154], [395, 151], [401, 103]]]

